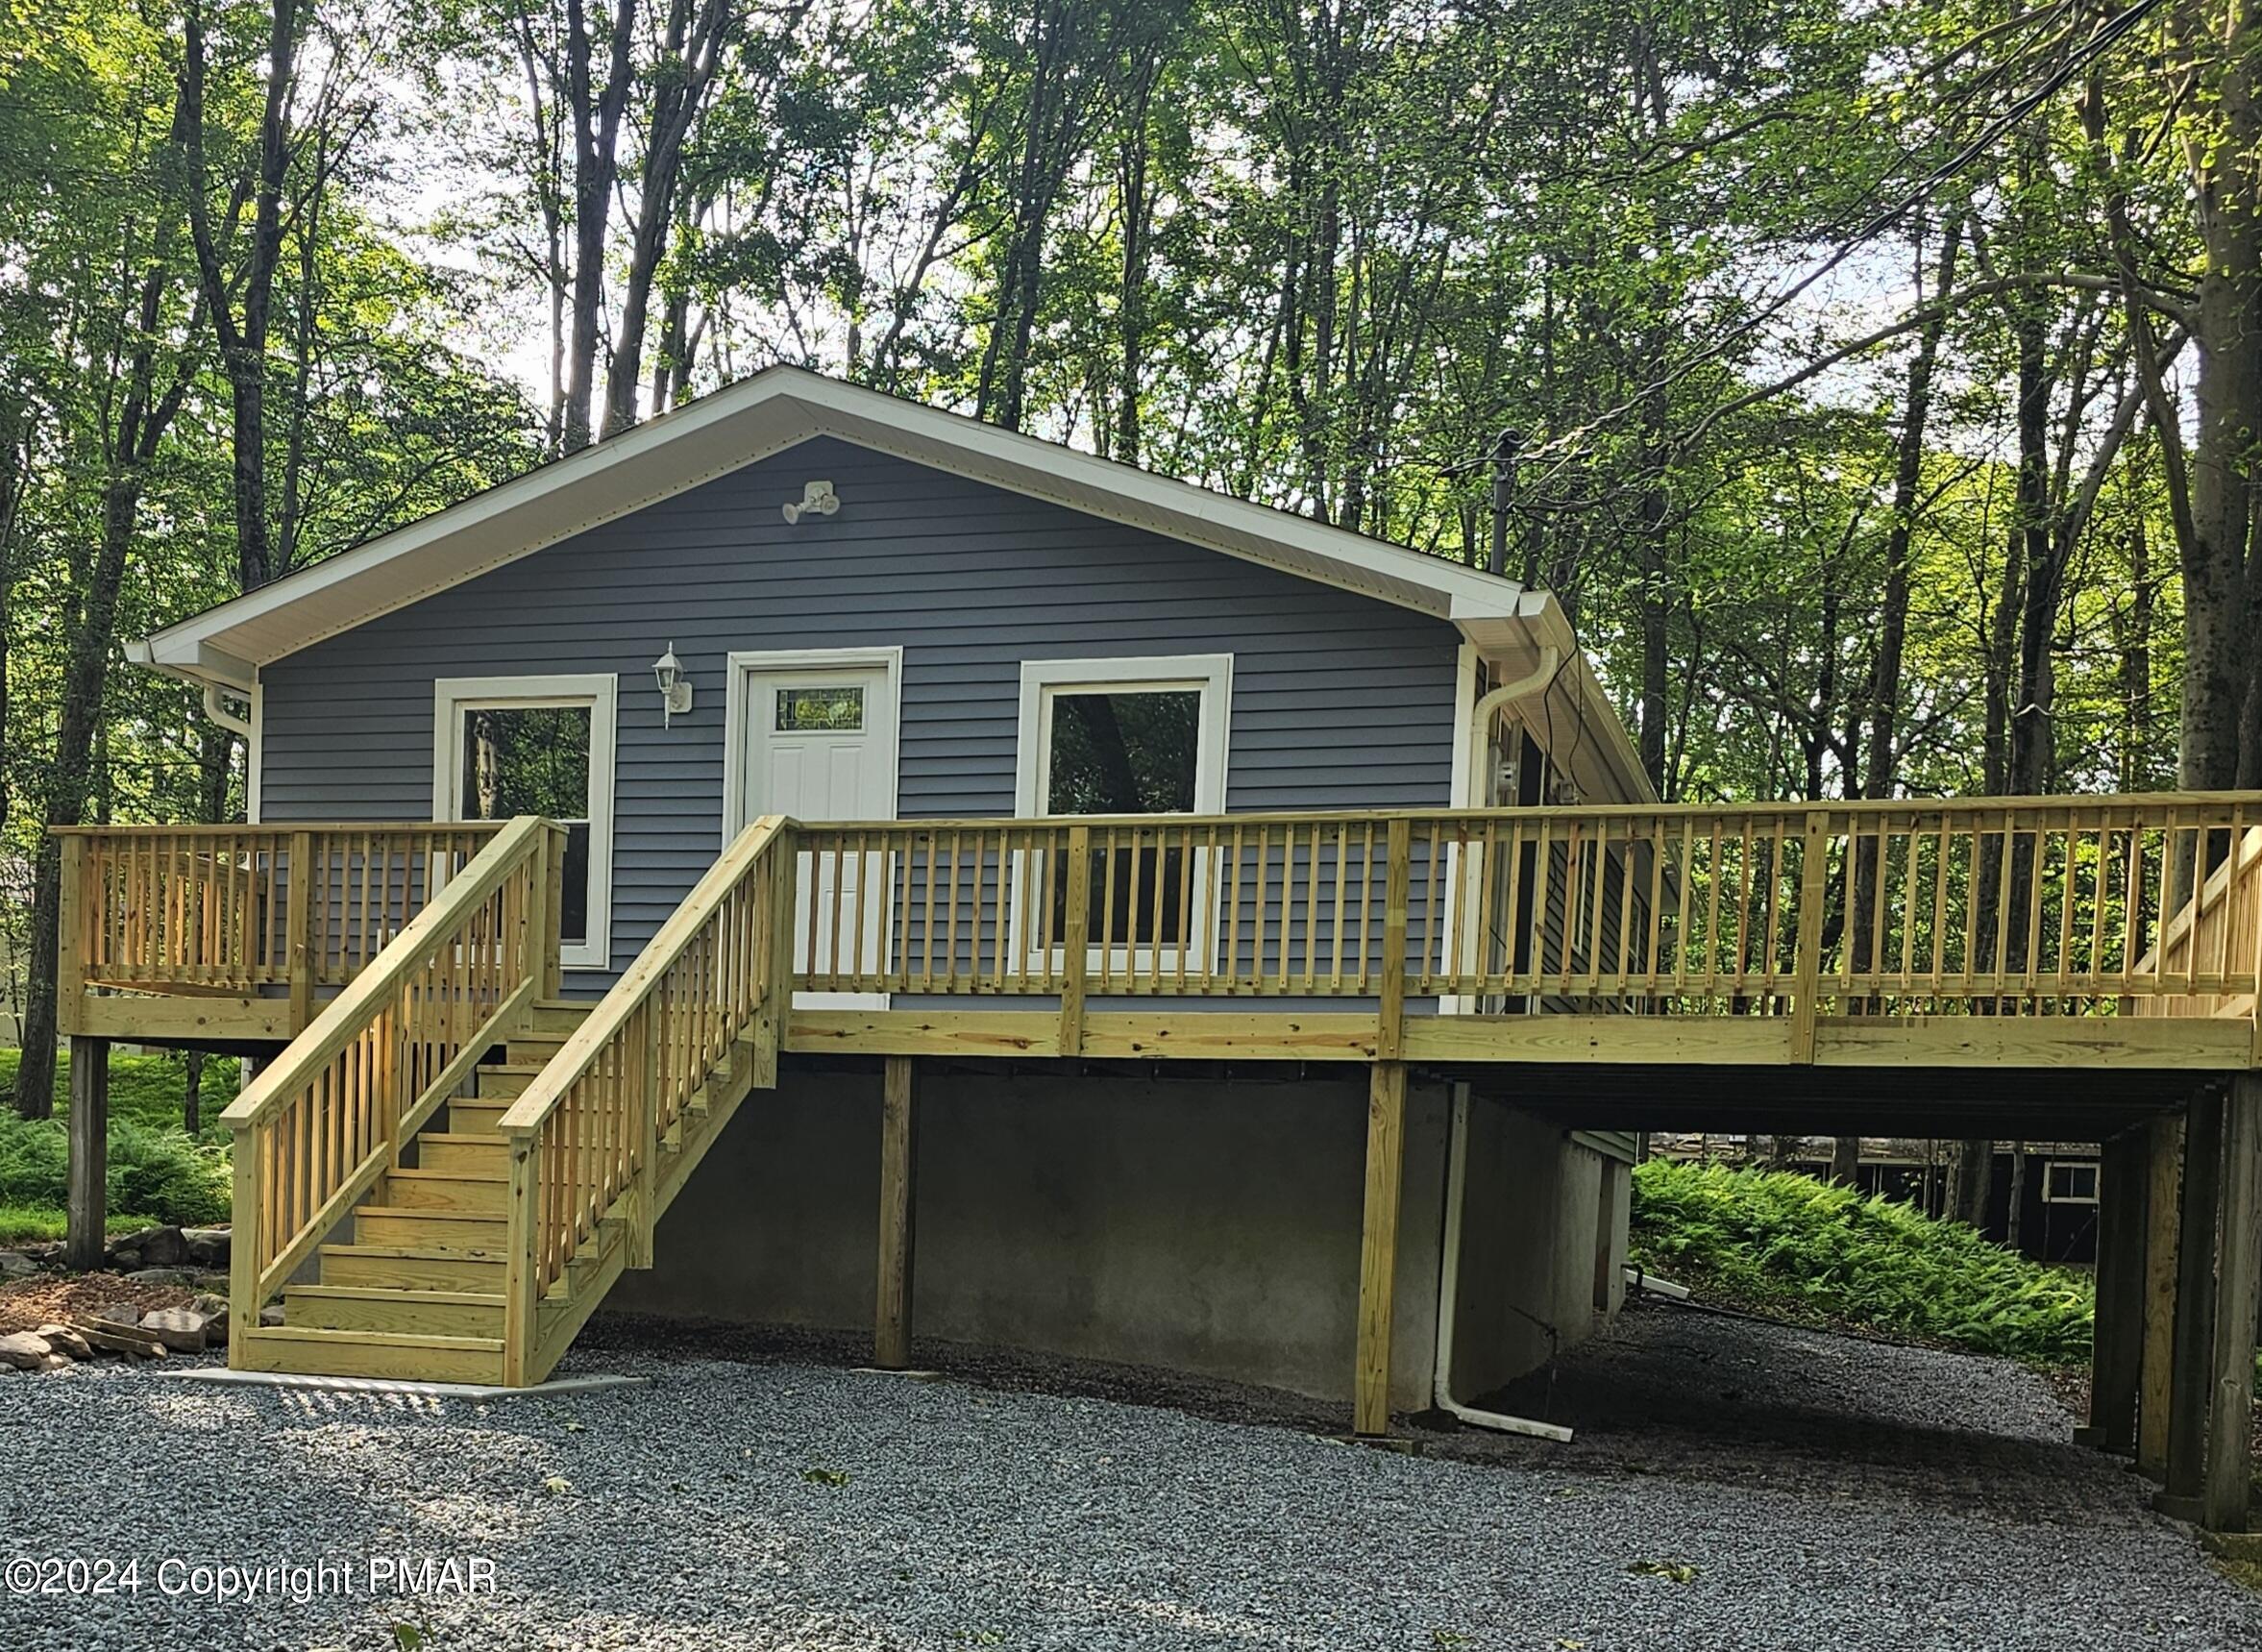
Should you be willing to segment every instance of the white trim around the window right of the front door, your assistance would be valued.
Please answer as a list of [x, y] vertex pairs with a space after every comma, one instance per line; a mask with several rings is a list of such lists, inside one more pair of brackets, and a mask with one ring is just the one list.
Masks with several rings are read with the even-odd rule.
[[[1138, 654], [1129, 659], [1056, 659], [1020, 663], [1020, 731], [1013, 747], [1013, 815], [1016, 819], [1047, 819], [1045, 792], [1052, 778], [1052, 697], [1061, 690], [1199, 690], [1201, 720], [1194, 733], [1194, 815], [1226, 812], [1226, 776], [1231, 774], [1233, 731], [1233, 656], [1231, 654]], [[1061, 815], [1056, 819], [1074, 819]], [[1158, 815], [1156, 819], [1167, 819]], [[1027, 874], [1025, 858], [1013, 867], [1013, 946], [1022, 957], [1034, 960], [1036, 939], [1027, 935], [1027, 907], [1020, 898], [1020, 880]], [[1190, 910], [1192, 935], [1181, 946], [1199, 957], [1208, 957], [1210, 932], [1215, 928], [1212, 905], [1217, 903], [1217, 880], [1201, 855], [1190, 869], [1194, 878]], [[1065, 939], [1065, 937], [1063, 937]], [[1163, 948], [1169, 960], [1179, 948]], [[1090, 966], [1099, 969], [1099, 948], [1090, 948]], [[1151, 948], [1120, 946], [1108, 969], [1147, 969]]]

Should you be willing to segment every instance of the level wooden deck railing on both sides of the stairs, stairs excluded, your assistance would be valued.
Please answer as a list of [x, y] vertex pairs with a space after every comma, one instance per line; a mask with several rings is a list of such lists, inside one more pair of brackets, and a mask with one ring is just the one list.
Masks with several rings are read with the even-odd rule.
[[[63, 1025], [296, 1036], [493, 831], [70, 833]], [[794, 1052], [2262, 1064], [2262, 794], [785, 833]]]

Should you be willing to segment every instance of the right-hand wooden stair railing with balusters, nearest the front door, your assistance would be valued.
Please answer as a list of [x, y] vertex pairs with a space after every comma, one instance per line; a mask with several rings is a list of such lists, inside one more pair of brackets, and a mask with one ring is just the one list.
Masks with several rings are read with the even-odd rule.
[[534, 1365], [543, 1294], [624, 1199], [649, 1260], [658, 1143], [717, 1064], [742, 1041], [776, 1061], [796, 835], [785, 815], [749, 824], [495, 1122], [511, 1143], [507, 1383]]

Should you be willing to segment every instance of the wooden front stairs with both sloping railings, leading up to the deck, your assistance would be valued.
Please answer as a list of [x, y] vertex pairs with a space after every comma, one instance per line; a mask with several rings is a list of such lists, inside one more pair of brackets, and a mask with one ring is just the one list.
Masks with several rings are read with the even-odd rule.
[[231, 1367], [541, 1383], [776, 1086], [778, 833], [749, 826], [597, 1003], [556, 993], [554, 824], [455, 874], [224, 1116]]

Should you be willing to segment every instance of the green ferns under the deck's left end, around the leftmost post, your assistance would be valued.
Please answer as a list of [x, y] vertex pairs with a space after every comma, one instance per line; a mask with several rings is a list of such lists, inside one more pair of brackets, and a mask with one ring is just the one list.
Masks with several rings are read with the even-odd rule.
[[[57, 1116], [18, 1118], [14, 1109], [18, 1050], [0, 1050], [0, 1245], [59, 1238], [63, 1231], [70, 1138], [68, 1057], [57, 1073]], [[109, 1206], [111, 1229], [172, 1222], [206, 1227], [228, 1220], [228, 1132], [219, 1109], [235, 1095], [238, 1064], [213, 1057], [204, 1066], [201, 1129], [181, 1129], [188, 1075], [176, 1055], [111, 1057]]]

